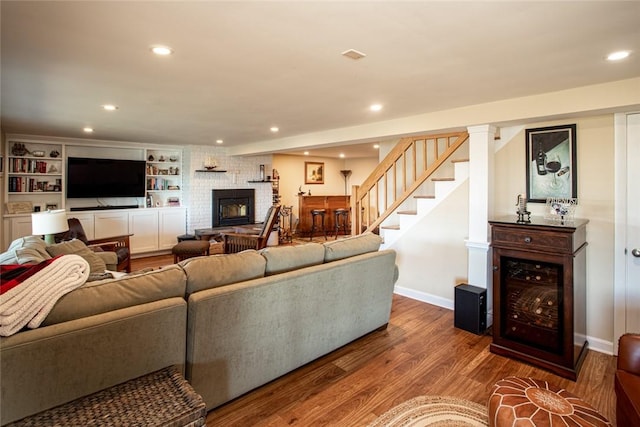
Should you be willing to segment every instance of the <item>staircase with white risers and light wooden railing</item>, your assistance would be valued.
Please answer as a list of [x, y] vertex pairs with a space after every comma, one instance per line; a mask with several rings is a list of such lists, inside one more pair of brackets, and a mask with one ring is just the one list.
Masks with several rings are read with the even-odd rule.
[[469, 177], [467, 159], [448, 161], [467, 132], [401, 139], [361, 186], [354, 186], [353, 232], [379, 233], [389, 247]]

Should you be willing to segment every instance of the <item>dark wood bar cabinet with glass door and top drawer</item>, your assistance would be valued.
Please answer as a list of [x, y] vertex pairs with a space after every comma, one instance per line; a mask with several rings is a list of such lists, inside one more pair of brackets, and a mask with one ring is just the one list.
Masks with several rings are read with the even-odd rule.
[[586, 225], [533, 218], [489, 221], [492, 353], [576, 380], [587, 353]]

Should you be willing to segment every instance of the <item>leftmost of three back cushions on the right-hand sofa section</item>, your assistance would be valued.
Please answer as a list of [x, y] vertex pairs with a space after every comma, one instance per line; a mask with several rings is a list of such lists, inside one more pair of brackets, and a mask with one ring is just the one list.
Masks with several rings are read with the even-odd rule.
[[266, 260], [256, 251], [189, 258], [180, 262], [187, 273], [187, 298], [194, 292], [264, 277]]

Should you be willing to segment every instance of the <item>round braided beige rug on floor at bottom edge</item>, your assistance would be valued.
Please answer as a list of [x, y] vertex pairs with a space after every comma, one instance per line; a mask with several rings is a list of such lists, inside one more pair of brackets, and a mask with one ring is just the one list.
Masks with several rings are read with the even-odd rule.
[[369, 427], [486, 427], [487, 408], [446, 396], [419, 396], [391, 408]]

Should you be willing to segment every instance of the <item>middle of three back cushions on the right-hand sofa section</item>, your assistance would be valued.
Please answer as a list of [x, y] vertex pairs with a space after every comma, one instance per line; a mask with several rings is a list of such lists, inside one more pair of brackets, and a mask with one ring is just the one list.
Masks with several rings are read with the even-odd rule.
[[265, 271], [267, 276], [324, 262], [324, 247], [320, 243], [307, 243], [300, 246], [269, 246], [260, 250], [260, 254], [267, 260]]

